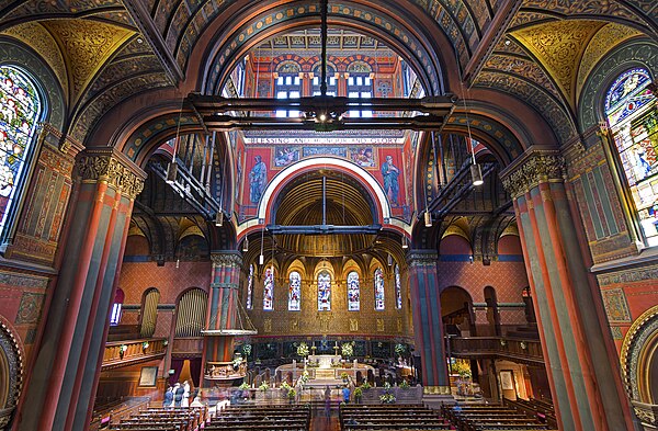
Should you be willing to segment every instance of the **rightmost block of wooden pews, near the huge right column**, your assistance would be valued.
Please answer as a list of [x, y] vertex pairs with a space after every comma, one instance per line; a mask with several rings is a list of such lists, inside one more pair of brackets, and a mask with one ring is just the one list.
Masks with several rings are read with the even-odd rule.
[[529, 417], [525, 412], [501, 405], [443, 406], [442, 415], [458, 431], [545, 431], [547, 423]]

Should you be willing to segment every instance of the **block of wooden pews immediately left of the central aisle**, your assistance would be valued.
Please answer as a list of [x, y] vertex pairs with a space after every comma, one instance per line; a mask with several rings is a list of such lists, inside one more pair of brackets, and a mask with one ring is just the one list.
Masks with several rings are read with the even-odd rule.
[[308, 431], [309, 428], [309, 406], [242, 405], [218, 411], [204, 431]]

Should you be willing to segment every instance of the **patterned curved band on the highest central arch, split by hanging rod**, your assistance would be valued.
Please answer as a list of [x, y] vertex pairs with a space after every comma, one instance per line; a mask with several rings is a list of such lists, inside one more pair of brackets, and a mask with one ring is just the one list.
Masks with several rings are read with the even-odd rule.
[[[353, 5], [332, 3], [330, 14], [338, 19], [356, 20], [377, 31], [398, 41], [407, 48], [410, 58], [418, 63], [422, 68], [424, 76], [429, 79], [429, 86], [433, 93], [441, 93], [442, 79], [438, 70], [436, 57], [433, 53], [426, 50], [424, 45], [409, 32], [406, 27], [399, 25], [393, 18], [382, 15], [375, 10], [358, 9]], [[243, 50], [246, 46], [252, 43], [263, 31], [273, 26], [281, 25], [283, 22], [300, 20], [304, 18], [316, 18], [318, 8], [315, 4], [304, 4], [298, 8], [279, 7], [268, 10], [266, 13], [252, 19], [234, 33], [226, 43], [216, 49], [214, 58], [207, 65], [208, 78], [205, 83], [206, 93], [217, 93], [220, 81], [228, 77], [228, 67], [235, 61], [235, 57]], [[417, 70], [419, 71], [419, 70]]]

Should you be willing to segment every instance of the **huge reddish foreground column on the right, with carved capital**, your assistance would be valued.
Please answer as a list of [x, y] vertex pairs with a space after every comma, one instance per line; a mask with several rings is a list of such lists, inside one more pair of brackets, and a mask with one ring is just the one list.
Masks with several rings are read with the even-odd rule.
[[619, 364], [609, 356], [570, 213], [564, 160], [531, 148], [501, 178], [514, 200], [523, 258], [560, 430], [632, 429], [627, 400], [616, 390]]

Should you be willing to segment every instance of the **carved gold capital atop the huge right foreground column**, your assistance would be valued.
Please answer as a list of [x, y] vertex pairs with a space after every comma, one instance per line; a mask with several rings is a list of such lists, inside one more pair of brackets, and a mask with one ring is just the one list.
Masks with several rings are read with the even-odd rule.
[[565, 159], [558, 151], [532, 150], [502, 171], [500, 178], [504, 189], [517, 199], [541, 182], [564, 181], [565, 174]]

